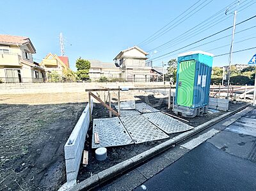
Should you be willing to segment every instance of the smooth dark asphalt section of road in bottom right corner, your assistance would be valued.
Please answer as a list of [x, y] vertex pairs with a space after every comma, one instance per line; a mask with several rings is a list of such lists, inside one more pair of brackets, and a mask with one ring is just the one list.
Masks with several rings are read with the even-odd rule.
[[255, 190], [255, 177], [255, 163], [204, 142], [135, 190]]

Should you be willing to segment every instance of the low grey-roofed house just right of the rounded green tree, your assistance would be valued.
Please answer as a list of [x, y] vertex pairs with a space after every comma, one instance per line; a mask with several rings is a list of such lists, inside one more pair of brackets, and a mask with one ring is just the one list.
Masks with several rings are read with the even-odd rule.
[[109, 79], [120, 78], [122, 70], [115, 66], [115, 63], [106, 63], [97, 60], [89, 60], [91, 67], [89, 70], [89, 76], [92, 80], [97, 80], [104, 76]]

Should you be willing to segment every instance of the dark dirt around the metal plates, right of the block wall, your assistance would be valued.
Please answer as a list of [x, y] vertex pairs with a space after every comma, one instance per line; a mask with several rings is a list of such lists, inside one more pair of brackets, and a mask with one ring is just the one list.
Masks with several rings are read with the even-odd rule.
[[[161, 94], [148, 95], [148, 93], [133, 93], [134, 98], [136, 99], [136, 103], [145, 102], [152, 107], [159, 109], [160, 111], [168, 112], [173, 114], [172, 110], [168, 109], [168, 98]], [[121, 96], [124, 99], [124, 97]], [[115, 100], [115, 98], [113, 98]], [[237, 109], [237, 107], [241, 107], [244, 103], [233, 104], [230, 103], [230, 111]], [[114, 108], [114, 107], [113, 107]], [[216, 113], [208, 113], [204, 114], [204, 116], [197, 116], [196, 118], [184, 118], [179, 116], [180, 118], [187, 119], [189, 122], [187, 124], [191, 126], [202, 125], [206, 121], [214, 119], [225, 112], [216, 112]], [[174, 115], [174, 114], [173, 114]], [[102, 105], [96, 103], [93, 106], [93, 118], [108, 118], [109, 113], [108, 110], [102, 107]], [[147, 149], [150, 149], [157, 144], [161, 144], [162, 142], [168, 140], [163, 139], [160, 141], [150, 141], [144, 142], [141, 144], [131, 144], [128, 146], [117, 146], [108, 148], [108, 158], [105, 161], [97, 161], [95, 159], [95, 149], [92, 149], [92, 123], [90, 124], [90, 129], [88, 131], [89, 138], [86, 140], [84, 144], [84, 149], [89, 151], [89, 164], [86, 167], [80, 165], [79, 174], [77, 176], [78, 181], [83, 181], [86, 178], [89, 178], [93, 174], [96, 174], [104, 169], [107, 169], [115, 164], [118, 164], [128, 158], [134, 157]], [[175, 137], [177, 134], [171, 134], [170, 138]], [[169, 139], [170, 139], [169, 138]]]

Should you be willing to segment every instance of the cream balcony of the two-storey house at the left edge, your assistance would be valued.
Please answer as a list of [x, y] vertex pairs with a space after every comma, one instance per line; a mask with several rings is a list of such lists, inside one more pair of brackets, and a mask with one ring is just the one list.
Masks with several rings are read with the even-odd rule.
[[1, 53], [0, 54], [1, 66], [20, 66], [20, 56], [15, 53]]

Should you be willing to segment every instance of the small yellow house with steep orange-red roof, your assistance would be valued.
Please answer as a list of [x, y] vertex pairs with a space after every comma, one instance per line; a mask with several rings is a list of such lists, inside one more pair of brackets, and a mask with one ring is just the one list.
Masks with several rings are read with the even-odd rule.
[[40, 66], [49, 72], [57, 72], [60, 76], [63, 76], [65, 70], [69, 68], [68, 57], [67, 56], [57, 56], [51, 52], [45, 56], [45, 58], [40, 63]]

